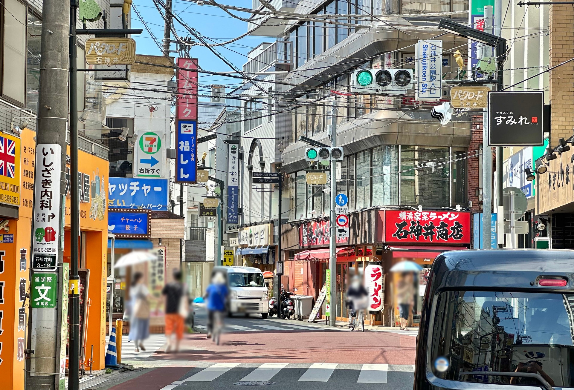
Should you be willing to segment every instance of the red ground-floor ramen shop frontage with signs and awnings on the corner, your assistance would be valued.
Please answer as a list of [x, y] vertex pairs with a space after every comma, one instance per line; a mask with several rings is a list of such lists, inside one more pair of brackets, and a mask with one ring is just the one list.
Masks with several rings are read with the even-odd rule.
[[[383, 209], [350, 214], [350, 237], [336, 243], [336, 317], [347, 320], [345, 292], [352, 275], [363, 276], [370, 262], [384, 271], [383, 308], [367, 316], [372, 325], [395, 326], [398, 302], [395, 297], [401, 273], [390, 268], [404, 260], [419, 264], [413, 278], [410, 323], [417, 325], [426, 275], [441, 252], [467, 249], [471, 240], [470, 212], [451, 210]], [[329, 262], [329, 220], [313, 219], [288, 224], [282, 229], [285, 273], [290, 291], [319, 297]]]

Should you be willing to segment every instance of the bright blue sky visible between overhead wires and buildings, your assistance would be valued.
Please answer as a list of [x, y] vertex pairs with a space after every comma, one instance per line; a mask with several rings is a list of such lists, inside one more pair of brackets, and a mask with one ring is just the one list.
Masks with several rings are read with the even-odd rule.
[[[224, 0], [224, 2], [220, 3], [248, 8], [251, 7], [251, 0]], [[136, 0], [134, 1], [134, 4], [137, 7], [139, 13], [144, 18], [150, 30], [152, 30], [154, 36], [161, 43], [161, 40], [164, 37], [164, 19], [158, 13], [152, 0]], [[247, 31], [246, 22], [231, 17], [218, 7], [209, 5], [198, 6], [196, 3], [185, 0], [173, 0], [172, 9], [175, 14], [184, 19], [185, 23], [187, 23], [192, 28], [195, 28], [204, 37], [213, 38], [215, 42], [231, 40], [232, 38], [238, 37]], [[249, 14], [246, 13], [239, 13], [236, 11], [233, 11], [233, 13], [241, 15], [241, 17], [249, 17]], [[142, 22], [139, 21], [139, 18], [135, 12], [132, 12], [131, 27], [144, 27]], [[187, 30], [185, 30], [183, 26], [176, 23], [176, 29], [180, 33], [180, 36], [187, 36]], [[161, 55], [160, 49], [145, 29], [141, 36], [132, 37], [135, 38], [135, 41], [137, 42], [138, 54], [152, 54], [156, 56]], [[226, 59], [229, 60], [232, 64], [241, 68], [242, 65], [246, 62], [247, 52], [249, 52], [261, 42], [273, 42], [274, 40], [275, 38], [247, 36], [230, 45], [219, 46], [215, 49], [224, 57], [226, 57]], [[172, 44], [171, 49], [176, 49], [174, 44]], [[196, 46], [191, 49], [191, 54], [193, 57], [199, 59], [200, 67], [205, 70], [214, 72], [225, 72], [233, 70], [207, 48]], [[172, 53], [172, 55], [176, 55], [176, 53]], [[201, 84], [237, 85], [239, 82], [241, 82], [241, 80], [230, 79], [228, 77], [226, 78], [222, 76], [206, 76], [200, 74]]]

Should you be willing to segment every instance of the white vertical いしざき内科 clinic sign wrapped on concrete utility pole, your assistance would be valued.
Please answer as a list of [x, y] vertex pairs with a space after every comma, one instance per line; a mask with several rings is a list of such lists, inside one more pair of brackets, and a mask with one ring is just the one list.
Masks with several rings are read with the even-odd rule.
[[61, 146], [42, 143], [36, 147], [36, 157], [32, 268], [55, 271], [60, 236]]

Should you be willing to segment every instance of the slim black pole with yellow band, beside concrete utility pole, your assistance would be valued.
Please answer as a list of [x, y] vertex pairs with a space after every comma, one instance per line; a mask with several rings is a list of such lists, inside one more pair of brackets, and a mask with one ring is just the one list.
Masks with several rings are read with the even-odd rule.
[[[69, 107], [70, 107], [70, 277], [69, 277], [69, 360], [68, 389], [79, 390], [80, 380], [80, 295], [78, 283], [78, 238], [80, 236], [80, 194], [77, 178], [77, 0], [71, 0], [69, 44]], [[73, 288], [72, 288], [73, 286]], [[110, 308], [111, 310], [111, 308]]]

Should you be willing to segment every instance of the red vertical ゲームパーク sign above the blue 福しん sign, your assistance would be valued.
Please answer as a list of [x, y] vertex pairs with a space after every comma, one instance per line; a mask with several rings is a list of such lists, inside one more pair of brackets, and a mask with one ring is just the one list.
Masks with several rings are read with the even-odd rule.
[[177, 120], [197, 120], [197, 59], [177, 59]]

